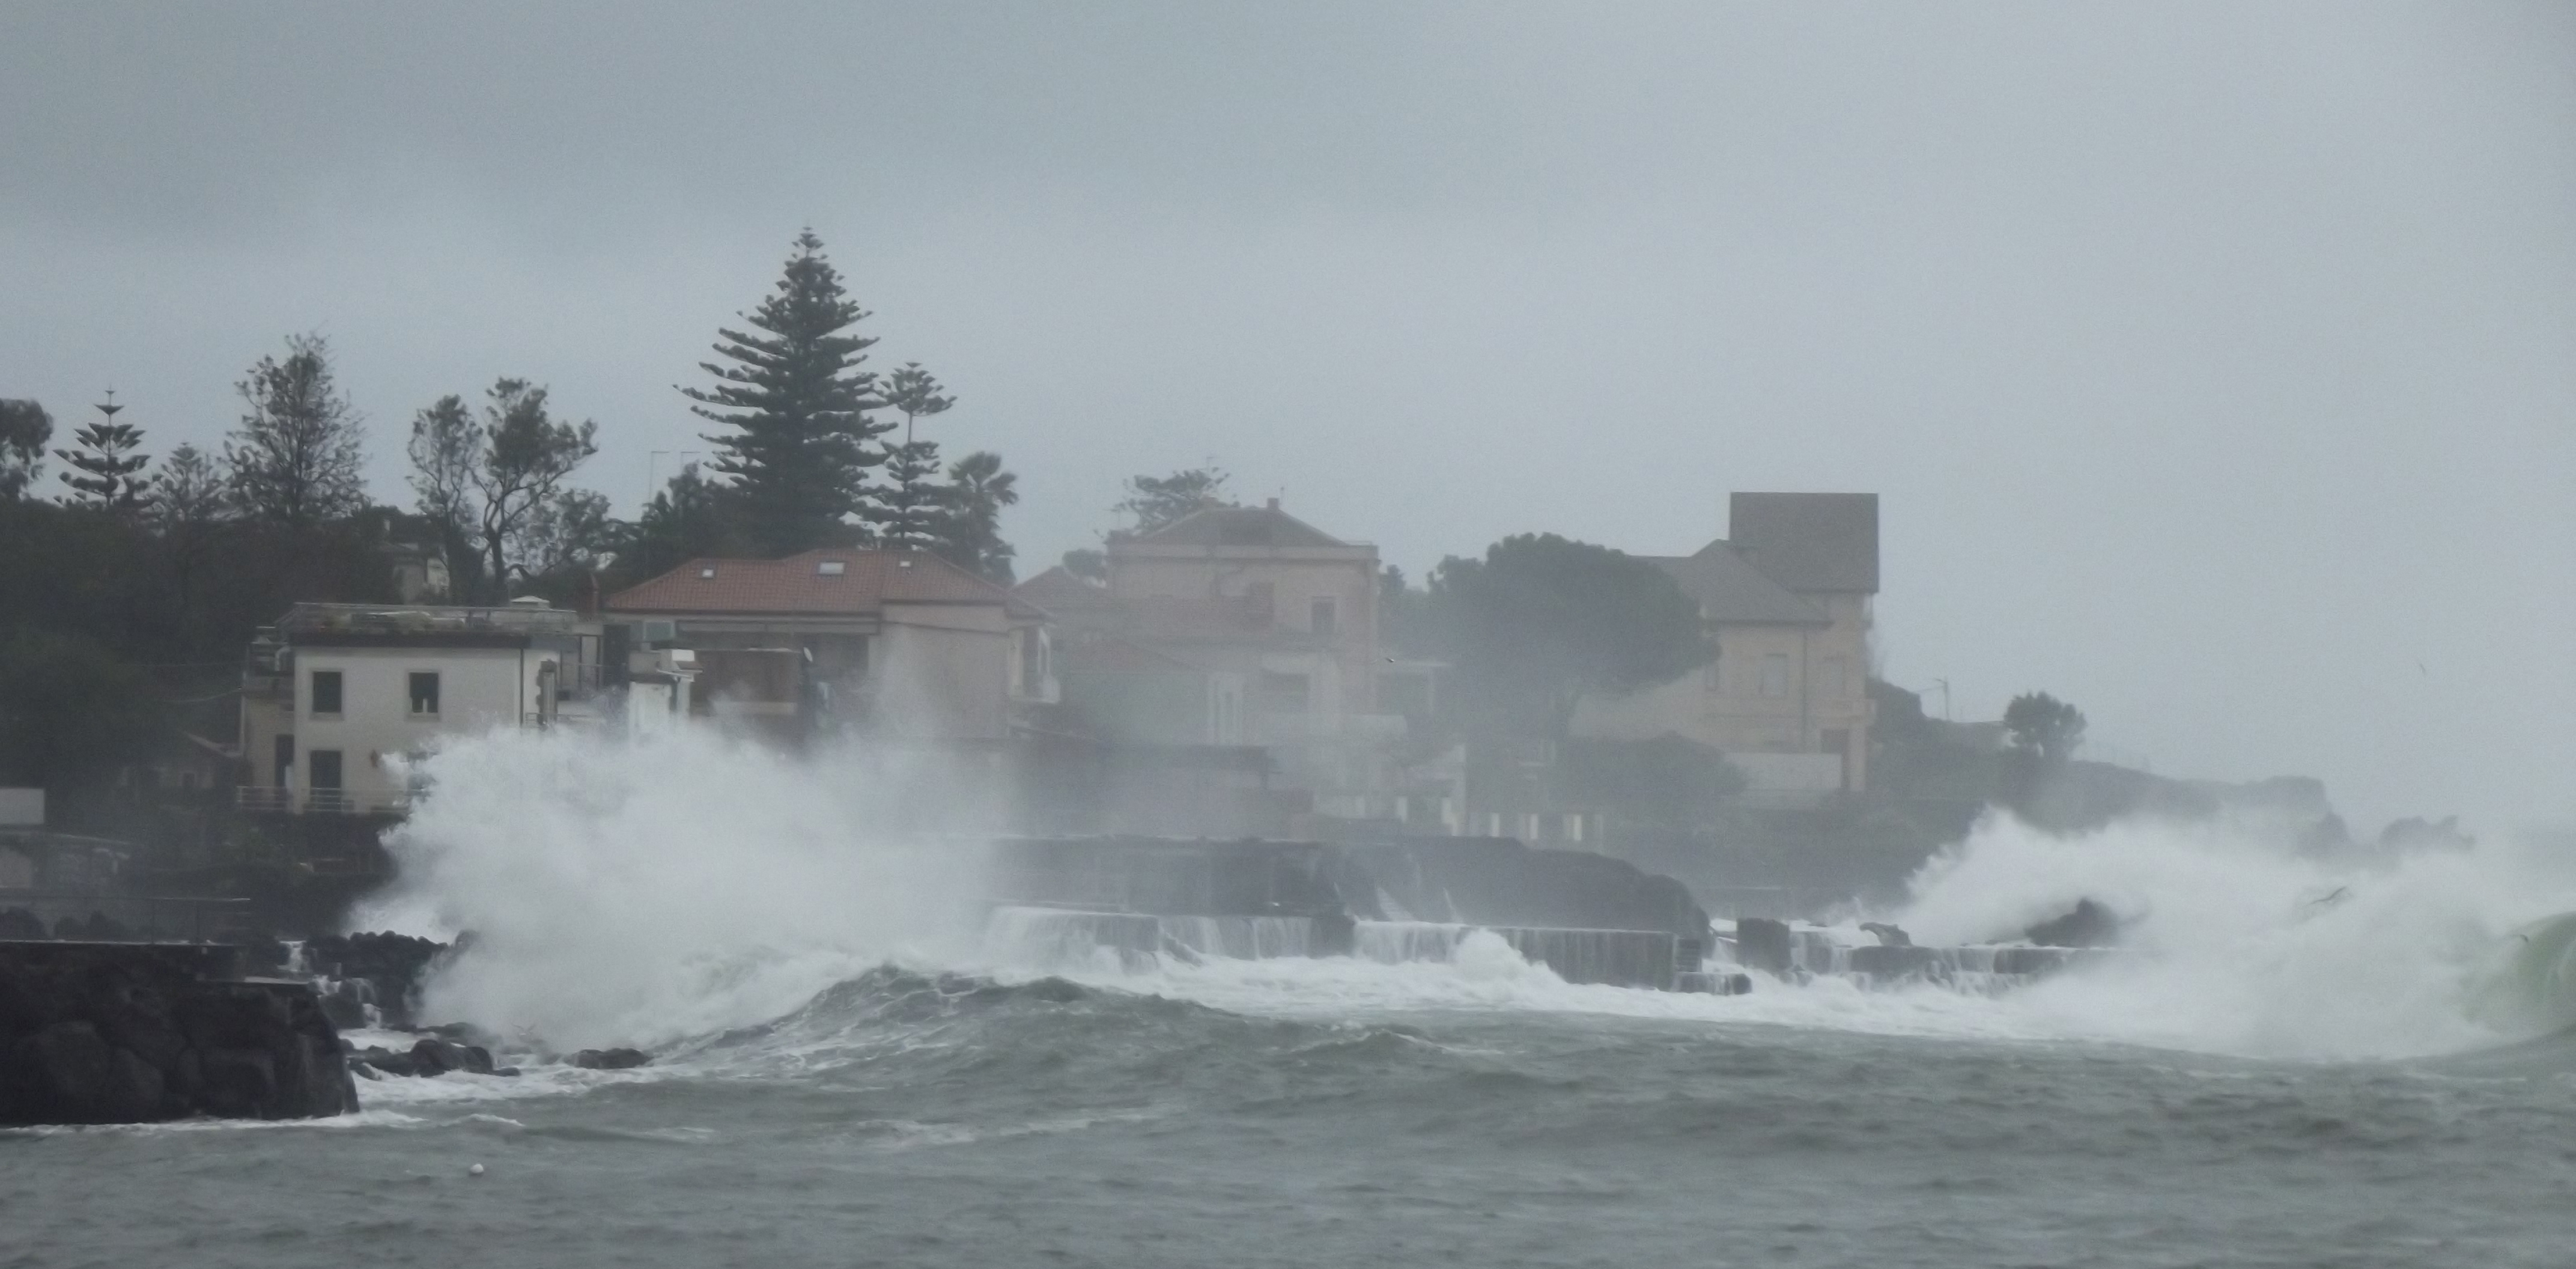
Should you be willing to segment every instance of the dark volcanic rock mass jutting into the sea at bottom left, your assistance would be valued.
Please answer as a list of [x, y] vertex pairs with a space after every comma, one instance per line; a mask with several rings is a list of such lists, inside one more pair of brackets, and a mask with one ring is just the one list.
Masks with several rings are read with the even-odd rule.
[[201, 947], [0, 945], [0, 1125], [358, 1109], [304, 983], [206, 981]]

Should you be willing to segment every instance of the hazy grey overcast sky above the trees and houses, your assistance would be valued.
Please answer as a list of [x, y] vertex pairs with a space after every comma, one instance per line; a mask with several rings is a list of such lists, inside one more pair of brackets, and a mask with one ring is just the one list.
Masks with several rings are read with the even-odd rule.
[[1873, 489], [1960, 718], [2576, 816], [2571, 5], [0, 5], [64, 427], [319, 329], [379, 499], [526, 376], [631, 510], [806, 224], [1028, 571], [1200, 461], [1414, 574]]

